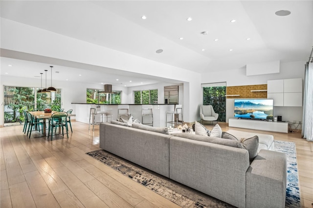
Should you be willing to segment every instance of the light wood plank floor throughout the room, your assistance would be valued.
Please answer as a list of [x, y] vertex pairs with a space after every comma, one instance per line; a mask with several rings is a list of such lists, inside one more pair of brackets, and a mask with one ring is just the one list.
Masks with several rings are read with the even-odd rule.
[[[92, 132], [87, 124], [72, 122], [69, 139], [58, 136], [52, 142], [34, 138], [38, 133], [32, 133], [28, 139], [22, 127], [0, 128], [1, 208], [178, 207], [85, 154], [99, 149], [98, 126]], [[228, 130], [226, 125], [221, 127]], [[271, 134], [275, 140], [296, 143], [301, 204], [303, 208], [312, 208], [313, 142], [301, 139], [300, 133]]]

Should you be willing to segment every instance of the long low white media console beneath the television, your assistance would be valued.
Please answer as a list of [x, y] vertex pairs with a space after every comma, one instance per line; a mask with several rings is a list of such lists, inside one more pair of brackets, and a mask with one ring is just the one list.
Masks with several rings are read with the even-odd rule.
[[228, 126], [237, 127], [237, 128], [249, 128], [249, 129], [256, 129], [256, 130], [263, 130], [263, 131], [288, 133], [287, 122], [268, 122], [268, 121], [261, 121], [261, 120], [229, 118]]

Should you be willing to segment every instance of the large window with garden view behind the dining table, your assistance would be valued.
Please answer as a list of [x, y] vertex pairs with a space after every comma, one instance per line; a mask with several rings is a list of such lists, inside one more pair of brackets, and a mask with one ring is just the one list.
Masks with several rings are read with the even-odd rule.
[[[61, 89], [51, 93], [37, 93], [39, 88], [4, 86], [4, 124], [22, 123], [23, 110], [61, 109]], [[36, 96], [36, 99], [35, 99]]]

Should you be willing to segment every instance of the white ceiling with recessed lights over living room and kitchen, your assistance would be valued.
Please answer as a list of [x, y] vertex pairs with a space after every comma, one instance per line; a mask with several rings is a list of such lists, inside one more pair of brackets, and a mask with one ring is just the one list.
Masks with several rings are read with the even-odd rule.
[[[291, 15], [276, 16], [279, 10], [289, 10]], [[312, 0], [1, 0], [0, 12], [5, 19], [199, 73], [241, 68], [247, 63], [307, 60], [313, 45]], [[142, 20], [142, 15], [147, 19]], [[187, 21], [188, 17], [192, 21]], [[201, 35], [203, 31], [208, 34]], [[163, 49], [163, 53], [156, 54], [157, 49]], [[21, 60], [14, 63], [8, 58], [14, 57], [1, 57], [1, 75], [8, 62], [39, 71], [47, 66]], [[74, 70], [60, 65], [53, 70]], [[88, 74], [85, 82], [100, 77], [99, 72], [89, 73], [90, 69], [84, 67], [75, 70]], [[106, 77], [117, 79], [108, 73]], [[147, 79], [145, 83], [154, 82], [154, 78], [141, 79], [138, 74], [135, 78], [139, 78], [139, 85], [143, 78]], [[123, 82], [135, 78], [127, 74]]]

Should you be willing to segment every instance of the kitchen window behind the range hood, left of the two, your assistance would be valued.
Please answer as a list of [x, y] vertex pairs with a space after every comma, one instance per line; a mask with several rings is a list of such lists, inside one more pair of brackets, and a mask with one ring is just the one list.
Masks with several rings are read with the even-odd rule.
[[121, 104], [122, 91], [103, 93], [100, 89], [87, 89], [88, 104]]

